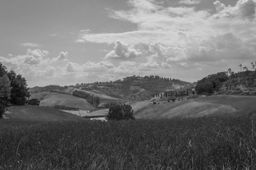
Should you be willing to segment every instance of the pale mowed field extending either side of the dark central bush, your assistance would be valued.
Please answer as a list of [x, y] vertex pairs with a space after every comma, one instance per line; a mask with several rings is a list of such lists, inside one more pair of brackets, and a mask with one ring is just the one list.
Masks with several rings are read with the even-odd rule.
[[[241, 116], [256, 111], [256, 97], [210, 96], [177, 102], [136, 102], [132, 105], [135, 118], [197, 118], [202, 116]], [[108, 109], [90, 113], [107, 115]]]

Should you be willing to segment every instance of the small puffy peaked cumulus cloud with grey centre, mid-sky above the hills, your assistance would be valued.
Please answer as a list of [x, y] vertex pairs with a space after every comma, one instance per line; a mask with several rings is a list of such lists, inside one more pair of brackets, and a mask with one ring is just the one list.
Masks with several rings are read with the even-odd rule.
[[128, 45], [124, 42], [117, 41], [114, 50], [111, 50], [105, 58], [106, 59], [132, 59], [141, 55], [140, 50], [135, 49], [134, 45]]

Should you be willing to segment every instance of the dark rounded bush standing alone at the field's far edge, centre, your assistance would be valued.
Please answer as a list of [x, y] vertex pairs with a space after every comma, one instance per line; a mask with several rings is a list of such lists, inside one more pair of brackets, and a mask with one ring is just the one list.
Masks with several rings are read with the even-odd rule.
[[120, 104], [109, 107], [108, 120], [134, 120], [131, 105]]

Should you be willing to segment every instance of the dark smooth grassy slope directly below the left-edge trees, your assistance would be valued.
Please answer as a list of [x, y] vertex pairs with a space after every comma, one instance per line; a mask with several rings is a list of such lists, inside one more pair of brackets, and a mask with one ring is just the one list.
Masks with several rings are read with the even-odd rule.
[[22, 121], [70, 121], [81, 120], [81, 117], [68, 112], [56, 110], [52, 107], [40, 107], [33, 105], [8, 107], [4, 114], [8, 120]]

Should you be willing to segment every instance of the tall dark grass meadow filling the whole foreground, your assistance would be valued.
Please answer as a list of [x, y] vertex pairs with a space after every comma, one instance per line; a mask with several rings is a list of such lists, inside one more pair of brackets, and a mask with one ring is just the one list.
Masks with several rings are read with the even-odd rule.
[[1, 122], [0, 169], [256, 169], [248, 118]]

